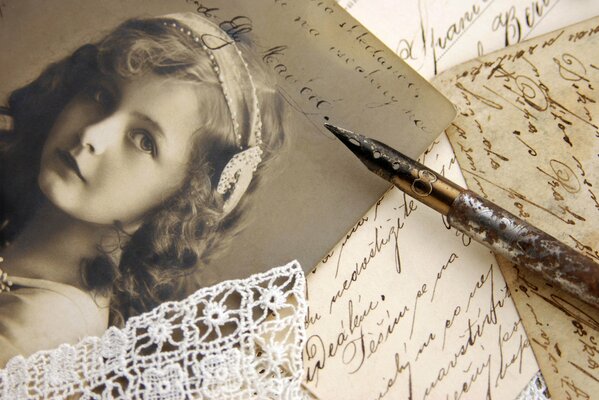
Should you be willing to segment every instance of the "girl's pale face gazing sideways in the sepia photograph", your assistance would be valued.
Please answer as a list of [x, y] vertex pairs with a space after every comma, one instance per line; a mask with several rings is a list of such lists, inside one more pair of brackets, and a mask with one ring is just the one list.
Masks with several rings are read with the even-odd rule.
[[150, 74], [84, 90], [44, 144], [40, 189], [77, 219], [138, 222], [183, 184], [201, 126], [196, 88]]

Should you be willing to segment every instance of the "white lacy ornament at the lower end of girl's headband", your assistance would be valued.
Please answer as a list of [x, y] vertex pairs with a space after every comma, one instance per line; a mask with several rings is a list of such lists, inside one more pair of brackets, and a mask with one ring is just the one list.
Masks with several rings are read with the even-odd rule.
[[229, 214], [247, 191], [258, 164], [262, 150], [258, 146], [235, 154], [225, 165], [216, 191], [225, 196], [223, 213]]

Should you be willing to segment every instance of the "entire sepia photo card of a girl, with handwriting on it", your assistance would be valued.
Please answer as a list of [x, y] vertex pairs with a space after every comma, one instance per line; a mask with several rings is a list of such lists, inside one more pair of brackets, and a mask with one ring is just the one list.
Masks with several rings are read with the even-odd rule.
[[0, 368], [198, 288], [315, 266], [387, 186], [324, 122], [410, 155], [445, 126], [453, 108], [421, 77], [309, 3], [0, 5]]

